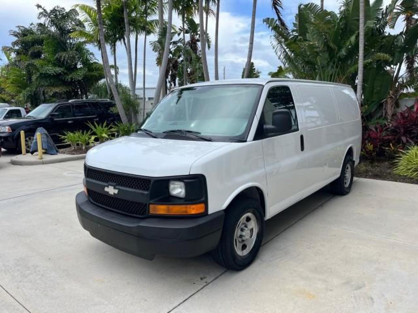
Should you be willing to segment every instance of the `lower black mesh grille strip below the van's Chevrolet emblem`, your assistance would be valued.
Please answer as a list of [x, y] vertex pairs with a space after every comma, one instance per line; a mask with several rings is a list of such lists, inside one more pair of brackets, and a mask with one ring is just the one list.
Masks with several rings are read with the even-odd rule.
[[136, 217], [144, 216], [147, 213], [147, 204], [145, 203], [119, 199], [93, 190], [88, 190], [88, 194], [92, 202], [112, 211]]

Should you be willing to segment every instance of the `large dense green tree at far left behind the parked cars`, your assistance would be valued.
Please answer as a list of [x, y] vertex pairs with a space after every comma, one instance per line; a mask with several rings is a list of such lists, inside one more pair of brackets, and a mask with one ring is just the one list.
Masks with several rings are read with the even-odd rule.
[[31, 103], [87, 97], [103, 76], [103, 67], [85, 43], [71, 37], [83, 23], [76, 10], [37, 5], [39, 23], [10, 31], [3, 47], [8, 63], [0, 69], [0, 98]]

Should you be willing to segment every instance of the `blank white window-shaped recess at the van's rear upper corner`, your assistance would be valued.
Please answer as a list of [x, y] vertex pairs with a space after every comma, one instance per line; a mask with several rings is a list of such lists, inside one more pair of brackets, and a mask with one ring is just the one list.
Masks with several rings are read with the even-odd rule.
[[347, 122], [359, 119], [359, 108], [354, 91], [348, 88], [334, 88], [339, 121]]

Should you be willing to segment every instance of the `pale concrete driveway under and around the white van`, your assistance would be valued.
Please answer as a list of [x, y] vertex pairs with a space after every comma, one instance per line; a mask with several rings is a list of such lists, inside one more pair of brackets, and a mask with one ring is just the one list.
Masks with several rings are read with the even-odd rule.
[[[10, 156], [9, 156], [10, 157]], [[417, 312], [418, 185], [357, 179], [267, 224], [242, 272], [209, 255], [150, 262], [82, 229], [83, 161], [0, 159], [0, 312]]]

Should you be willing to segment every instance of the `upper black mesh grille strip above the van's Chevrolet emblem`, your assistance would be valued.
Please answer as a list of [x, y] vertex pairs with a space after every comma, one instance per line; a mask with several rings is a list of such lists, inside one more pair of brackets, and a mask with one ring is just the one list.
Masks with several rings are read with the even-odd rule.
[[87, 167], [86, 178], [94, 179], [105, 184], [115, 184], [116, 186], [149, 191], [151, 181], [141, 177], [128, 176], [127, 174], [115, 174], [104, 172]]

